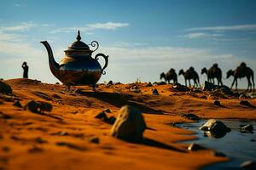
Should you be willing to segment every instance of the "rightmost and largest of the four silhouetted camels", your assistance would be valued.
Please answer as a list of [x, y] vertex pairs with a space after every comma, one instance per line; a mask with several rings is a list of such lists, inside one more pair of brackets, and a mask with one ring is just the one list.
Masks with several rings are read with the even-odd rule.
[[[230, 88], [233, 88], [234, 83], [236, 82], [236, 90], [237, 90], [237, 78], [242, 78], [242, 77], [247, 77], [247, 82], [248, 82], [248, 86], [247, 86], [247, 90], [255, 90], [255, 85], [254, 85], [254, 73], [253, 70], [250, 67], [247, 67], [247, 65], [242, 62], [241, 65], [239, 65], [238, 67], [236, 67], [235, 71], [228, 71], [227, 72], [227, 78], [229, 78], [230, 76], [234, 77], [234, 80], [231, 84]], [[252, 82], [251, 82], [251, 78], [252, 78]]]

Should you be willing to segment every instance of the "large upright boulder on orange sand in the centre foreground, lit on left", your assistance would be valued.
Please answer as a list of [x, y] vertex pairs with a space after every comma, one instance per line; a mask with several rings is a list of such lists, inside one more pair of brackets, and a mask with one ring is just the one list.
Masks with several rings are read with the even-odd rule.
[[131, 142], [142, 142], [146, 128], [143, 114], [130, 105], [123, 106], [111, 128], [110, 135]]

